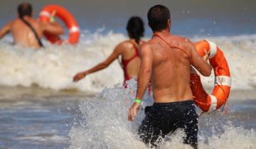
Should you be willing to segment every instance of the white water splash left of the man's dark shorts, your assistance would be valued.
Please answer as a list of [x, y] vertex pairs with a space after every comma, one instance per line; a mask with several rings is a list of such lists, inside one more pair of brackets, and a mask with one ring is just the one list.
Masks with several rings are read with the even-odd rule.
[[[129, 87], [133, 85], [129, 82]], [[134, 123], [127, 121], [127, 112], [134, 99], [132, 92], [131, 88], [124, 89], [119, 84], [114, 89], [103, 89], [94, 102], [82, 103], [80, 110], [85, 121], [70, 131], [70, 148], [145, 148], [144, 143], [134, 136], [142, 112]], [[78, 138], [85, 138], [85, 141]]]

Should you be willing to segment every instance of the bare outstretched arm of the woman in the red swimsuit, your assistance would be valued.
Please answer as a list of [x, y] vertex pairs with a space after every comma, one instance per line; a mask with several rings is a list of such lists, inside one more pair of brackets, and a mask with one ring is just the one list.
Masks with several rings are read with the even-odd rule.
[[77, 75], [73, 77], [73, 81], [78, 82], [80, 79], [84, 78], [86, 75], [92, 72], [97, 72], [109, 66], [115, 59], [117, 59], [118, 55], [121, 54], [121, 50], [122, 50], [122, 45], [117, 45], [117, 47], [114, 48], [113, 53], [109, 57], [107, 57], [105, 61], [100, 62], [100, 64], [96, 65], [95, 67], [92, 67], [89, 70], [85, 70], [84, 72], [79, 72]]

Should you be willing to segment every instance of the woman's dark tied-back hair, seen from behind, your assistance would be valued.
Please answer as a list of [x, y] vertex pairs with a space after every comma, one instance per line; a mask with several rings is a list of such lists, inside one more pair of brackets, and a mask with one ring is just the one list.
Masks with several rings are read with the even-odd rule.
[[144, 36], [144, 23], [142, 21], [142, 18], [139, 18], [139, 16], [132, 16], [129, 18], [129, 21], [127, 23], [127, 31], [131, 38], [134, 38], [136, 43], [139, 44], [139, 40], [141, 37]]

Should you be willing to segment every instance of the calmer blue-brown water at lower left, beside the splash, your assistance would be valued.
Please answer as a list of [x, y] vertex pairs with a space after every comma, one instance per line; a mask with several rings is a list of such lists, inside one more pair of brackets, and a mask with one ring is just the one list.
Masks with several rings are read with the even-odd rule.
[[0, 148], [67, 148], [70, 128], [82, 120], [82, 99], [60, 94], [1, 96]]

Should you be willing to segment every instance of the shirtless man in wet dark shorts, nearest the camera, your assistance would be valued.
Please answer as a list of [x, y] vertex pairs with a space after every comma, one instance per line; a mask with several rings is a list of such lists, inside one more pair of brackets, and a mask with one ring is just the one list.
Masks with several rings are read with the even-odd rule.
[[166, 134], [182, 128], [183, 143], [197, 148], [198, 115], [189, 86], [191, 65], [204, 76], [211, 67], [208, 55], [201, 58], [188, 38], [171, 35], [169, 9], [156, 5], [147, 13], [154, 35], [142, 45], [142, 62], [138, 75], [137, 96], [129, 109], [133, 121], [149, 80], [153, 84], [153, 106], [145, 109], [146, 117], [139, 126], [139, 136], [146, 145], [157, 146]]

